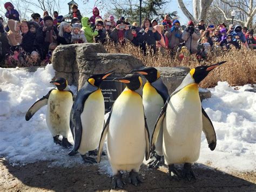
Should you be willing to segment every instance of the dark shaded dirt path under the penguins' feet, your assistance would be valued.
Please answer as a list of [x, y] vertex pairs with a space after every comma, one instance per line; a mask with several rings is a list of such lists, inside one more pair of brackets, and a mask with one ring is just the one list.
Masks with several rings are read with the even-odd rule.
[[[0, 191], [110, 191], [110, 177], [100, 174], [98, 165], [72, 168], [48, 167], [49, 161], [11, 166], [0, 159]], [[195, 165], [196, 182], [170, 181], [166, 169], [142, 166], [143, 183], [127, 191], [256, 191], [256, 172], [225, 174]], [[127, 175], [125, 176], [125, 178]], [[127, 179], [127, 178], [126, 178]]]

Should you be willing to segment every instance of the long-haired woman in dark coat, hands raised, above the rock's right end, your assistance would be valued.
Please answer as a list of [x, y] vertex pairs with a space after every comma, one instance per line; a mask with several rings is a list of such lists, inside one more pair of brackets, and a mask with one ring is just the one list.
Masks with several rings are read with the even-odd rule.
[[146, 45], [150, 46], [153, 53], [156, 53], [156, 41], [161, 40], [161, 35], [154, 27], [152, 27], [148, 18], [143, 20], [142, 30], [138, 32], [138, 38], [144, 55], [146, 54]]

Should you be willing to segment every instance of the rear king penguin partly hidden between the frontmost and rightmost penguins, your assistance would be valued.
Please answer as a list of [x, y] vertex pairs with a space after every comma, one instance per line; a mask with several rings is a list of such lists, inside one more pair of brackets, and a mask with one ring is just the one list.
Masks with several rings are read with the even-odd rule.
[[[147, 82], [143, 87], [143, 106], [149, 127], [150, 139], [154, 131], [154, 124], [163, 108], [166, 99], [169, 97], [168, 89], [160, 77], [160, 73], [154, 67], [145, 67], [144, 69], [134, 69], [132, 73], [140, 73], [146, 77]], [[151, 154], [150, 168], [158, 168], [163, 156], [163, 129], [158, 134], [155, 153]]]

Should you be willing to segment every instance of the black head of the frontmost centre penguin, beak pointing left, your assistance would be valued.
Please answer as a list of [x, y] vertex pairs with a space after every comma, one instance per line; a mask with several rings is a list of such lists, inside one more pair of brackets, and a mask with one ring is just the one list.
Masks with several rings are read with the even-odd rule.
[[142, 77], [139, 74], [128, 74], [125, 77], [117, 77], [113, 81], [120, 81], [126, 84], [127, 88], [135, 91], [142, 87]]

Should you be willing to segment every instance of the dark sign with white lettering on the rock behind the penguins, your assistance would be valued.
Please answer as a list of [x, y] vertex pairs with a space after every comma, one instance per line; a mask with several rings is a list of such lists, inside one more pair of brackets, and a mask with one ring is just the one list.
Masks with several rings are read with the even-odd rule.
[[111, 111], [114, 101], [125, 89], [125, 84], [119, 81], [112, 81], [115, 77], [108, 77], [102, 82], [102, 94], [105, 102], [105, 113]]

